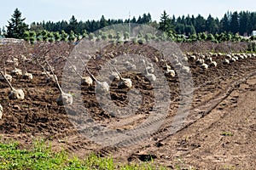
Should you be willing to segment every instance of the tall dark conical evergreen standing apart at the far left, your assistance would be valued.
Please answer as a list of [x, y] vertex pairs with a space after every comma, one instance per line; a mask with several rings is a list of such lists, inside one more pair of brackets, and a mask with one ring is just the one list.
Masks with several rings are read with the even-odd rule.
[[26, 20], [26, 18], [21, 18], [20, 10], [18, 8], [15, 8], [15, 13], [12, 15], [10, 21], [8, 21], [9, 26], [6, 26], [6, 37], [23, 38], [24, 32], [28, 30], [28, 26], [26, 25], [24, 20]]

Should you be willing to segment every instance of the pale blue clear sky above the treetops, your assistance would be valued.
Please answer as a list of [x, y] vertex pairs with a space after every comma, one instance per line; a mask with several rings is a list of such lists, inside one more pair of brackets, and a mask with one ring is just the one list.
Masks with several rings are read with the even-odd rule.
[[15, 8], [19, 8], [26, 23], [32, 21], [127, 19], [150, 13], [153, 20], [160, 20], [166, 10], [171, 15], [203, 15], [222, 18], [229, 11], [256, 11], [255, 0], [3, 0], [0, 10], [0, 26], [6, 26]]

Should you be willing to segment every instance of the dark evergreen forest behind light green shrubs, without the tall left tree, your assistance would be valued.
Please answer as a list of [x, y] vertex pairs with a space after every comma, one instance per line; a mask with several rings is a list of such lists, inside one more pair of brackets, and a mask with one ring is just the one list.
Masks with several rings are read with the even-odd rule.
[[[168, 21], [169, 20], [169, 21]], [[151, 14], [143, 14], [137, 19], [133, 17], [131, 20], [106, 20], [104, 15], [100, 20], [87, 20], [87, 21], [78, 21], [73, 15], [69, 21], [61, 20], [58, 22], [33, 22], [31, 24], [31, 29], [33, 31], [46, 30], [46, 31], [59, 31], [62, 30], [69, 33], [71, 30], [75, 34], [82, 34], [84, 30], [88, 32], [93, 32], [101, 29], [105, 26], [111, 26], [114, 24], [123, 24], [123, 23], [137, 23], [137, 24], [148, 24], [156, 28], [160, 28], [163, 23], [167, 23], [166, 26], [170, 30], [174, 31], [177, 34], [184, 34], [189, 36], [191, 34], [207, 32], [207, 33], [222, 33], [230, 32], [232, 34], [238, 33], [241, 36], [250, 36], [253, 30], [256, 30], [256, 13], [241, 11], [240, 13], [236, 12], [227, 12], [224, 14], [222, 19], [213, 18], [211, 14], [205, 19], [201, 14], [198, 14], [196, 17], [194, 15], [189, 16], [178, 16], [172, 15], [170, 17], [166, 14], [166, 11], [161, 15], [160, 23], [153, 21]], [[166, 31], [163, 29], [163, 31]], [[168, 30], [169, 31], [169, 30]]]

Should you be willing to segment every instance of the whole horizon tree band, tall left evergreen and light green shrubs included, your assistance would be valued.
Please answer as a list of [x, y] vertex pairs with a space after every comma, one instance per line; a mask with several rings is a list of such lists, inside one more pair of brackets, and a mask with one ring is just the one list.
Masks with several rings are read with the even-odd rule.
[[[189, 41], [194, 40], [212, 40], [229, 41], [230, 39], [239, 39], [241, 36], [250, 36], [253, 30], [256, 30], [256, 13], [241, 11], [227, 12], [222, 19], [213, 18], [211, 14], [205, 19], [201, 14], [178, 16], [166, 13], [161, 14], [160, 22], [153, 21], [151, 14], [143, 14], [137, 19], [113, 20], [105, 19], [104, 15], [100, 20], [78, 21], [73, 15], [70, 20], [61, 20], [58, 22], [43, 21], [33, 22], [30, 26], [25, 23], [25, 18], [21, 18], [21, 12], [18, 8], [9, 20], [7, 31], [2, 31], [4, 37], [35, 37], [38, 40], [45, 39], [75, 39], [76, 37], [86, 37], [91, 32], [101, 29], [105, 26], [114, 24], [137, 23], [154, 26], [156, 29], [165, 31], [168, 37], [178, 42], [183, 41], [184, 37], [189, 37]], [[1, 33], [1, 32], [0, 32]], [[61, 36], [60, 36], [61, 35]], [[55, 37], [55, 38], [54, 38]]]

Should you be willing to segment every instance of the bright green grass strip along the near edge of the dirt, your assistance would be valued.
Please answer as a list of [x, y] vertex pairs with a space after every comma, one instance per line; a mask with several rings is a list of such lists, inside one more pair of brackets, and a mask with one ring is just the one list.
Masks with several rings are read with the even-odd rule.
[[115, 165], [112, 158], [92, 154], [84, 160], [68, 156], [65, 151], [53, 152], [50, 145], [37, 141], [31, 150], [19, 149], [17, 142], [0, 142], [0, 169], [166, 169], [154, 167], [152, 161], [142, 165]]

